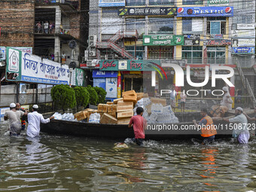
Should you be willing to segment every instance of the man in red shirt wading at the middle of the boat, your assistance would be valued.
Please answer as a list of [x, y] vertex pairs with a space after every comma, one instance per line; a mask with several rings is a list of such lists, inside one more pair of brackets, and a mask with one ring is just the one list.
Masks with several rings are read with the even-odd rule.
[[138, 145], [143, 145], [143, 141], [145, 139], [145, 129], [147, 126], [147, 120], [145, 120], [143, 115], [144, 109], [141, 107], [136, 108], [136, 116], [133, 116], [130, 120], [130, 123], [128, 127], [132, 127], [133, 125], [133, 131], [134, 136], [133, 142], [136, 142]]

